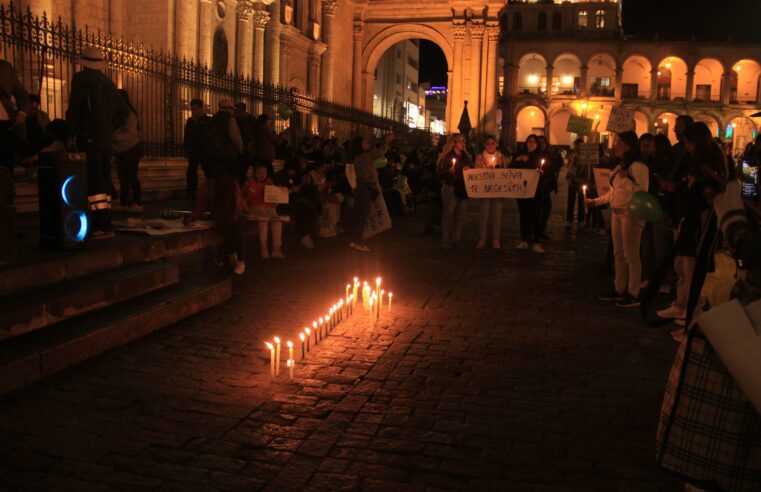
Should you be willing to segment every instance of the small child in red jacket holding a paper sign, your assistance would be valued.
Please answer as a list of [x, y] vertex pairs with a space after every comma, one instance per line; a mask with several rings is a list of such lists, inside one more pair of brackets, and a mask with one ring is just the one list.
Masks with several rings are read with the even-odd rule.
[[264, 201], [264, 188], [272, 186], [267, 172], [267, 164], [259, 162], [254, 168], [254, 176], [243, 184], [243, 196], [249, 212], [256, 218], [259, 228], [259, 248], [262, 259], [270, 257], [267, 248], [267, 225], [272, 229], [272, 258], [285, 258], [281, 251], [283, 244], [283, 223], [277, 216], [276, 205]]

